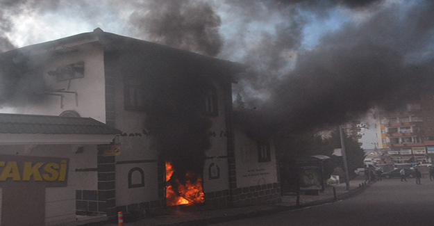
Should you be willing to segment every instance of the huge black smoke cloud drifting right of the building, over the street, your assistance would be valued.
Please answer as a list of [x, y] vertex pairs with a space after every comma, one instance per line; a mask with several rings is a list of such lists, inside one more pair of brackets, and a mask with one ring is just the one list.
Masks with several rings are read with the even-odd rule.
[[[306, 2], [285, 3], [292, 7]], [[285, 23], [290, 31], [276, 29], [275, 35], [266, 34], [269, 38], [249, 51], [257, 54], [243, 59], [252, 65], [251, 72], [240, 77], [243, 86], [235, 89], [251, 108], [273, 119], [262, 127], [267, 132], [340, 124], [362, 117], [374, 106], [392, 110], [432, 90], [432, 1], [405, 6], [381, 1], [335, 3], [369, 13], [325, 35], [308, 50], [300, 48], [299, 27], [304, 22], [294, 14]], [[312, 10], [316, 7], [312, 5]], [[287, 42], [283, 45], [278, 40]], [[291, 62], [291, 58], [296, 60]], [[256, 91], [254, 98], [251, 90]]]

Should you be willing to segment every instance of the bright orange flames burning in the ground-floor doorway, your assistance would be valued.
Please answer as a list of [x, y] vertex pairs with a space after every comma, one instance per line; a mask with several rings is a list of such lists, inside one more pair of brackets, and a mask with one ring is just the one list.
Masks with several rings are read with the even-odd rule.
[[[183, 204], [200, 204], [204, 202], [202, 179], [193, 172], [187, 172], [185, 175], [186, 183], [181, 184], [177, 179], [169, 182], [174, 173], [172, 164], [166, 163], [166, 200], [167, 206], [178, 206]], [[192, 181], [194, 177], [198, 177], [196, 181]], [[172, 184], [176, 183], [178, 191], [174, 191]]]

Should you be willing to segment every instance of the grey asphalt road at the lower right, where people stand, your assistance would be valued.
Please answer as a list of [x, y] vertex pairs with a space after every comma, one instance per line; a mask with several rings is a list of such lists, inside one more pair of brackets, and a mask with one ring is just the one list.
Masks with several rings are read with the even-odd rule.
[[215, 225], [434, 225], [434, 181], [383, 179], [347, 200]]

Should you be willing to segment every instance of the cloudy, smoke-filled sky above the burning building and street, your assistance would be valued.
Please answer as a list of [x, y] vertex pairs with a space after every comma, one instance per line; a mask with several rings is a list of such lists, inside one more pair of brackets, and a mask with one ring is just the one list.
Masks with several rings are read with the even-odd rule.
[[234, 95], [274, 130], [330, 127], [431, 89], [429, 0], [0, 0], [0, 52], [97, 27], [249, 65]]

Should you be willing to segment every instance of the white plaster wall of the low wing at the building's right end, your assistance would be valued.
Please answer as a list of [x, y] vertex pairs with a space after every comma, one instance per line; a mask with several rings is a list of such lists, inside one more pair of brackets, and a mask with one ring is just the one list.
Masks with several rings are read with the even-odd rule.
[[271, 161], [258, 162], [258, 143], [235, 128], [235, 159], [237, 187], [256, 186], [277, 182], [276, 148], [270, 143]]

